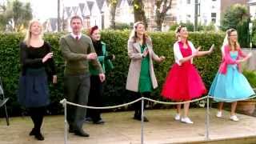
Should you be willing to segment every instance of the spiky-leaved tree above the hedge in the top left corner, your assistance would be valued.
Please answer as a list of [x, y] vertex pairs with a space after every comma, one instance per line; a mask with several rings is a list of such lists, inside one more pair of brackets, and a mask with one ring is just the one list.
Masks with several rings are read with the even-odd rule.
[[29, 2], [7, 1], [6, 5], [1, 6], [1, 8], [0, 26], [2, 30], [21, 31], [32, 18], [32, 9]]

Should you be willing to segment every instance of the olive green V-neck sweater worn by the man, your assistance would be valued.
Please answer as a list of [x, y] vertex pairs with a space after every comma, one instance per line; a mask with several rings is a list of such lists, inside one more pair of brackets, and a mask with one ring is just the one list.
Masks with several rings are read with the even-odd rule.
[[76, 41], [70, 34], [62, 37], [60, 48], [65, 59], [64, 74], [86, 74], [90, 72], [89, 63], [99, 73], [103, 73], [102, 66], [97, 60], [86, 59], [86, 54], [94, 53], [94, 46], [91, 39], [82, 35]]

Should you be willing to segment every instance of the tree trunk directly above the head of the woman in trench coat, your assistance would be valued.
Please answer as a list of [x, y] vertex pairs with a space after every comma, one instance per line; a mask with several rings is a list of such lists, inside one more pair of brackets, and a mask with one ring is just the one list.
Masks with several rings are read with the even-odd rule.
[[134, 0], [134, 22], [142, 21], [147, 28], [146, 15], [143, 0]]

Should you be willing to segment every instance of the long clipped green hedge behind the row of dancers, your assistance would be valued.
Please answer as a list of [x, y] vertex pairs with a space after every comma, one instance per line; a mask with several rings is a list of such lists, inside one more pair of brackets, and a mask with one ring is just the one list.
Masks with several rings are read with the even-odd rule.
[[[130, 59], [127, 56], [127, 40], [130, 31], [106, 30], [102, 31], [102, 41], [106, 42], [107, 50], [110, 54], [115, 54], [114, 70], [107, 72], [106, 85], [104, 93], [104, 106], [114, 106], [124, 102], [130, 102], [131, 98], [126, 87], [126, 76], [130, 65]], [[50, 42], [53, 46], [54, 59], [57, 66], [58, 84], [50, 85], [51, 103], [48, 106], [49, 114], [61, 114], [62, 106], [59, 101], [63, 96], [63, 71], [64, 61], [58, 40], [63, 34], [45, 34], [46, 42]], [[19, 42], [22, 41], [23, 34], [0, 34], [0, 76], [3, 79], [3, 88], [6, 97], [10, 98], [7, 103], [9, 113], [11, 115], [23, 114], [24, 110], [17, 102], [18, 78], [20, 74], [19, 64]], [[160, 97], [162, 83], [166, 78], [170, 66], [174, 64], [174, 53], [172, 47], [175, 42], [174, 33], [156, 32], [150, 33], [153, 40], [154, 52], [158, 55], [166, 56], [166, 61], [161, 64], [154, 63], [154, 70], [158, 78], [158, 89], [154, 90], [152, 98], [165, 100]], [[194, 64], [198, 68], [206, 87], [209, 88], [214, 75], [218, 70], [221, 61], [221, 53], [219, 47], [222, 44], [224, 34], [215, 33], [190, 33], [190, 41], [194, 46], [202, 46], [202, 50], [208, 50], [214, 43], [216, 49], [213, 54], [206, 57], [195, 58]]]

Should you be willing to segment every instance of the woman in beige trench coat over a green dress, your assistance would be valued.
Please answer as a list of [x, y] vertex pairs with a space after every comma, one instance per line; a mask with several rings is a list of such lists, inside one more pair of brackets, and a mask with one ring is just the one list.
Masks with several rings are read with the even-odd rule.
[[[134, 99], [149, 97], [150, 92], [158, 87], [154, 74], [153, 60], [164, 61], [165, 57], [154, 54], [151, 38], [146, 34], [143, 22], [134, 23], [134, 30], [128, 40], [128, 56], [131, 59], [126, 81], [126, 90]], [[141, 102], [134, 104], [134, 119], [141, 120]], [[144, 117], [144, 121], [148, 119]]]

